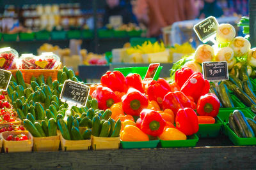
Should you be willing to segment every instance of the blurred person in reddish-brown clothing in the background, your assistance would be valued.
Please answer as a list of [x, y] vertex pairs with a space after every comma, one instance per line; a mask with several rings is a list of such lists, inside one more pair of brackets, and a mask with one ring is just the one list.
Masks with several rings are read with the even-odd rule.
[[198, 16], [198, 0], [136, 0], [133, 13], [147, 25], [149, 37], [159, 37], [161, 29], [173, 22], [191, 20]]

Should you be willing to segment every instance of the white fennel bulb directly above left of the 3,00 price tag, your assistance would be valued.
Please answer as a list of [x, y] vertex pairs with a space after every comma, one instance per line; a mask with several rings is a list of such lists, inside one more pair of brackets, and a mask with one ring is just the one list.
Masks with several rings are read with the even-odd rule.
[[194, 59], [200, 64], [205, 61], [211, 61], [214, 58], [214, 50], [210, 45], [200, 45], [196, 49]]

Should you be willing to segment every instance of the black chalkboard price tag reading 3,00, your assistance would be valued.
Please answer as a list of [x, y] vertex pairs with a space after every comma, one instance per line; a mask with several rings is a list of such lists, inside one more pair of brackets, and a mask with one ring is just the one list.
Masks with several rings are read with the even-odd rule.
[[227, 61], [203, 62], [204, 78], [209, 81], [228, 80]]

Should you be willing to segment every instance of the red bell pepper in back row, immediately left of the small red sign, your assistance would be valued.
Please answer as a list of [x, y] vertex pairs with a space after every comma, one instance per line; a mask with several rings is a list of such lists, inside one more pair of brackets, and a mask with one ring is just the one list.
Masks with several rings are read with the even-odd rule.
[[142, 78], [140, 74], [134, 73], [134, 74], [128, 74], [125, 77], [125, 83], [128, 88], [132, 87], [136, 90], [139, 90], [141, 93], [144, 93], [143, 85], [142, 85]]

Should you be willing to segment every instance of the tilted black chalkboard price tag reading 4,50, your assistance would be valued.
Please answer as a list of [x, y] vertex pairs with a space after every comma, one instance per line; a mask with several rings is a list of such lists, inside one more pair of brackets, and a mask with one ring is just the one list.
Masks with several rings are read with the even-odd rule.
[[206, 43], [209, 40], [214, 41], [216, 36], [216, 32], [218, 29], [218, 21], [215, 17], [208, 17], [199, 22], [198, 24], [194, 25], [194, 31], [198, 38], [203, 42]]

